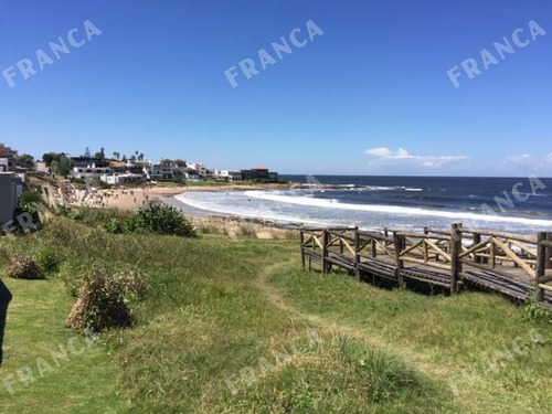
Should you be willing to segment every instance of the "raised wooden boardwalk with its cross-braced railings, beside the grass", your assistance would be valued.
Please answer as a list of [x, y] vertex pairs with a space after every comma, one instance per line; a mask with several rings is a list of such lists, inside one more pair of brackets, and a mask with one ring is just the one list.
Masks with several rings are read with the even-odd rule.
[[414, 283], [456, 294], [477, 288], [552, 308], [552, 232], [535, 236], [465, 229], [301, 229], [304, 268], [341, 268], [359, 280]]

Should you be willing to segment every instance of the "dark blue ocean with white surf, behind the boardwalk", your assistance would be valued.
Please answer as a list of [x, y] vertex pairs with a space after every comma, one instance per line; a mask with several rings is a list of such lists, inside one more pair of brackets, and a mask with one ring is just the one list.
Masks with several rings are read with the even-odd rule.
[[[311, 177], [282, 176], [307, 183]], [[446, 230], [452, 223], [530, 234], [552, 232], [552, 179], [317, 176], [331, 189], [187, 192], [193, 208], [280, 223]]]

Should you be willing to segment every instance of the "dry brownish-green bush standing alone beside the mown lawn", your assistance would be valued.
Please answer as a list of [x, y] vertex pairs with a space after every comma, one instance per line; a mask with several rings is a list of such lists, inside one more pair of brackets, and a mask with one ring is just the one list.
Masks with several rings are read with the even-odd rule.
[[83, 279], [66, 327], [81, 333], [97, 333], [131, 326], [125, 298], [129, 285], [128, 280], [114, 276], [106, 265], [94, 264]]

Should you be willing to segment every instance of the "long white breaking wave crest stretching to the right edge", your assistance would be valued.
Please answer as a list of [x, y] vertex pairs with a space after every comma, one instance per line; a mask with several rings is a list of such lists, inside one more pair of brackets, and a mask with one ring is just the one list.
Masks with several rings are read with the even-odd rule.
[[283, 195], [266, 191], [246, 191], [245, 195], [259, 200], [319, 208], [319, 209], [340, 209], [340, 210], [359, 211], [359, 212], [386, 213], [386, 214], [397, 214], [397, 215], [422, 215], [422, 216], [432, 216], [432, 217], [452, 219], [452, 220], [474, 220], [481, 222], [516, 223], [524, 225], [552, 227], [552, 220], [513, 217], [513, 216], [493, 215], [484, 213], [479, 214], [467, 211], [464, 212], [439, 211], [439, 210], [428, 210], [422, 208], [399, 206], [399, 205], [349, 204], [349, 203], [340, 203], [338, 200], [323, 200], [316, 198], [307, 199], [305, 197]]

